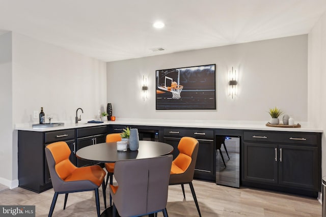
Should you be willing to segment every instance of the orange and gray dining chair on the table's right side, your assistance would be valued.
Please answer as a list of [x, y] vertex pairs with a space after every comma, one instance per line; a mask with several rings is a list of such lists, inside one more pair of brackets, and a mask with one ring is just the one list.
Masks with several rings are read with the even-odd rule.
[[192, 182], [194, 178], [198, 147], [199, 143], [197, 139], [192, 137], [181, 138], [178, 144], [179, 154], [172, 162], [169, 184], [181, 184], [183, 198], [185, 198], [183, 184], [189, 184], [199, 216], [202, 216]]

